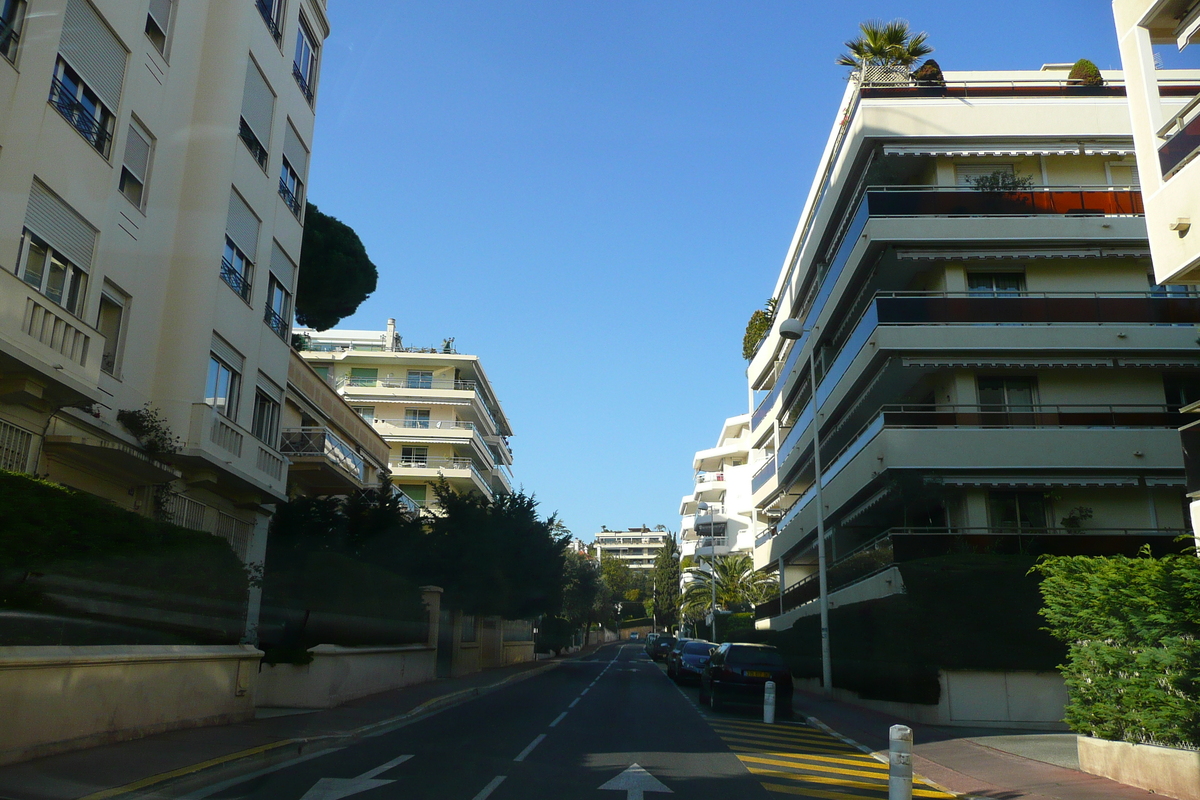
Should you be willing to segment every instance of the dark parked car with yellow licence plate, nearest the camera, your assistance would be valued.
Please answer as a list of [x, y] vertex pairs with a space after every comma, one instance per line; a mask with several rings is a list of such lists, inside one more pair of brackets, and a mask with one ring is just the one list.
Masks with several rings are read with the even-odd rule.
[[700, 702], [714, 711], [726, 703], [761, 705], [768, 680], [775, 681], [775, 716], [791, 716], [792, 673], [779, 650], [767, 644], [725, 643], [700, 676]]

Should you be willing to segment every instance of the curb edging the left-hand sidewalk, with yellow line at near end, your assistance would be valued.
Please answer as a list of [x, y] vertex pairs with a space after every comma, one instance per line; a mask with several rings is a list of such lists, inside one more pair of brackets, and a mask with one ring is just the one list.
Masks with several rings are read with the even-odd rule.
[[[514, 675], [509, 675], [504, 680], [497, 681], [494, 684], [488, 684], [487, 686], [472, 686], [470, 688], [462, 688], [448, 694], [440, 694], [438, 697], [430, 698], [424, 703], [409, 709], [404, 714], [398, 714], [386, 720], [380, 720], [378, 722], [372, 722], [370, 724], [360, 726], [350, 730], [342, 730], [338, 733], [330, 733], [319, 736], [308, 736], [300, 739], [281, 739], [278, 741], [272, 741], [265, 745], [259, 745], [257, 747], [251, 747], [248, 750], [241, 750], [235, 753], [228, 753], [217, 758], [212, 758], [205, 762], [199, 762], [198, 764], [191, 764], [188, 766], [181, 766], [176, 770], [170, 770], [169, 772], [161, 772], [158, 775], [151, 775], [149, 777], [133, 781], [131, 783], [125, 783], [122, 786], [113, 787], [109, 789], [102, 789], [92, 794], [83, 795], [78, 800], [110, 800], [113, 798], [139, 798], [139, 796], [151, 796], [145, 793], [149, 790], [161, 789], [166, 784], [180, 783], [188, 780], [197, 780], [203, 777], [211, 777], [214, 772], [220, 770], [229, 770], [232, 776], [238, 776], [246, 771], [247, 768], [259, 766], [264, 762], [268, 764], [278, 763], [278, 756], [293, 754], [293, 756], [305, 756], [311, 758], [316, 753], [323, 752], [325, 750], [331, 750], [335, 747], [344, 747], [356, 739], [365, 736], [376, 736], [396, 728], [403, 727], [404, 724], [415, 722], [419, 718], [434, 714], [437, 711], [460, 705], [470, 699], [487, 694], [494, 690], [502, 688], [509, 684], [520, 682], [522, 680], [533, 678], [534, 675], [540, 675], [541, 673], [548, 672], [563, 663], [562, 660], [552, 661], [547, 664], [534, 667], [532, 669], [526, 669], [524, 672], [518, 672]], [[294, 748], [294, 750], [293, 750]], [[290, 760], [290, 759], [283, 759]], [[161, 796], [161, 795], [152, 795]]]

